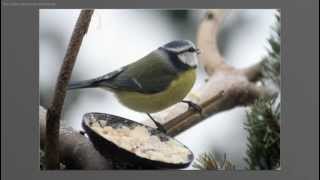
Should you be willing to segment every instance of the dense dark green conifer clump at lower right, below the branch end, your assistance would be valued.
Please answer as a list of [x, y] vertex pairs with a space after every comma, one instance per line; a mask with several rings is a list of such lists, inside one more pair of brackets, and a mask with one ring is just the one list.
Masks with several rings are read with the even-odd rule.
[[277, 97], [258, 99], [247, 112], [248, 150], [245, 159], [252, 170], [280, 166], [280, 103]]

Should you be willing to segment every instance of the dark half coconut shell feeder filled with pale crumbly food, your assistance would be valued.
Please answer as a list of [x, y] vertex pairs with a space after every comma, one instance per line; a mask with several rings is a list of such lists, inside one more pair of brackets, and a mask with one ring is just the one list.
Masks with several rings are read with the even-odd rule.
[[181, 142], [141, 123], [104, 113], [86, 113], [82, 126], [94, 147], [118, 167], [181, 169], [193, 153]]

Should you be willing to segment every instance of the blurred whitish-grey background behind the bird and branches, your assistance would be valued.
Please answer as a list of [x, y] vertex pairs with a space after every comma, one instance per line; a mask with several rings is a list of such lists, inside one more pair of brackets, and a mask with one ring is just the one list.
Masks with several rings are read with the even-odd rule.
[[[80, 10], [40, 10], [40, 104], [50, 105], [56, 78]], [[267, 53], [267, 38], [275, 23], [275, 10], [226, 10], [220, 29], [219, 48], [227, 63], [246, 67]], [[90, 79], [130, 62], [176, 39], [195, 42], [197, 27], [205, 10], [96, 10], [85, 36], [71, 80]], [[199, 79], [205, 74], [199, 69]], [[200, 81], [198, 81], [200, 82]], [[201, 81], [202, 82], [202, 81]], [[196, 83], [194, 88], [199, 87]], [[100, 89], [67, 93], [63, 123], [81, 129], [86, 112], [104, 112], [141, 121], [146, 115], [122, 106], [115, 97]], [[245, 107], [214, 115], [183, 132], [177, 139], [195, 156], [215, 152], [227, 154], [237, 167], [245, 168], [247, 148]], [[189, 167], [188, 169], [192, 169]]]

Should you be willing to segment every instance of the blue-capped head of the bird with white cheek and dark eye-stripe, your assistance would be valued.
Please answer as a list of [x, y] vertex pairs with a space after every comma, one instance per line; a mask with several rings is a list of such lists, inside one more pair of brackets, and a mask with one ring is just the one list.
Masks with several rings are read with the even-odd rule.
[[198, 65], [197, 54], [199, 54], [200, 51], [189, 40], [171, 41], [160, 48], [175, 54], [181, 63], [189, 67], [195, 68]]

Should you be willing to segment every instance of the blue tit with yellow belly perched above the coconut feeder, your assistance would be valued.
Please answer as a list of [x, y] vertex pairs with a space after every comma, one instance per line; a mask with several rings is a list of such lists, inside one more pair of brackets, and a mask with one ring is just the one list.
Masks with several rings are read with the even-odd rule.
[[70, 83], [68, 89], [102, 88], [113, 92], [129, 109], [147, 113], [158, 129], [165, 132], [150, 113], [162, 111], [178, 102], [201, 111], [183, 99], [196, 80], [199, 49], [189, 40], [169, 42], [143, 58], [103, 76]]

